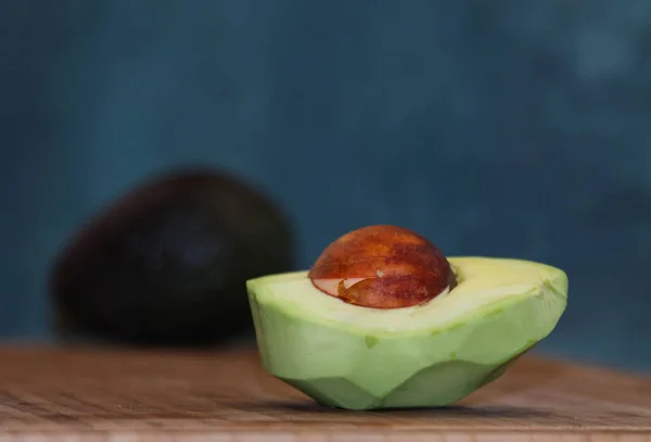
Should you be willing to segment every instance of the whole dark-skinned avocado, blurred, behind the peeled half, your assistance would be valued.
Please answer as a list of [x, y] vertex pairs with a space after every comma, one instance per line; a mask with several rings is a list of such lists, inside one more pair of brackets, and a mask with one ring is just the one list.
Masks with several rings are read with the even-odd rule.
[[157, 177], [95, 216], [56, 257], [59, 332], [136, 345], [210, 345], [251, 332], [245, 281], [293, 266], [289, 220], [210, 169]]

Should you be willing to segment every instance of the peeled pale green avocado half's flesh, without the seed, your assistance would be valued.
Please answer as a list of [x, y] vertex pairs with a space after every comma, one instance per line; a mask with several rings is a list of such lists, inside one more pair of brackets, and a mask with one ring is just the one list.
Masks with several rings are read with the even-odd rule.
[[316, 289], [307, 271], [248, 280], [263, 366], [323, 405], [444, 406], [499, 378], [565, 311], [567, 276], [559, 268], [448, 261], [458, 286], [405, 308], [347, 304]]

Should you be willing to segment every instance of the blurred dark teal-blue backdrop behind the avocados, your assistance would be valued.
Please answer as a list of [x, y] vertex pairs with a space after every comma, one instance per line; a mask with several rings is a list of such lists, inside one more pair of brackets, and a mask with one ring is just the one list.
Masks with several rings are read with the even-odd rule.
[[[560, 266], [570, 305], [537, 351], [651, 370], [651, 2], [15, 0], [0, 33], [4, 340], [60, 339], [50, 281], [73, 236], [201, 167], [283, 214], [259, 241], [291, 258], [251, 271], [396, 224], [447, 255]], [[104, 278], [130, 271], [106, 260]]]

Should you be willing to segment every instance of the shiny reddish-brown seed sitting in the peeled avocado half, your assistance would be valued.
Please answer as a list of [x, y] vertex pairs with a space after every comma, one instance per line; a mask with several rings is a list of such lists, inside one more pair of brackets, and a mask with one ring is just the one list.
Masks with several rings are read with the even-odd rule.
[[329, 295], [372, 308], [422, 304], [457, 286], [441, 250], [395, 226], [362, 227], [344, 235], [326, 248], [308, 277]]

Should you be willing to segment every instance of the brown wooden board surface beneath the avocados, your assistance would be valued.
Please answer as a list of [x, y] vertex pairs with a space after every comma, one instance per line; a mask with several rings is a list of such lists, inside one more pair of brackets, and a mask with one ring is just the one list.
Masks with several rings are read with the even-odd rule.
[[444, 409], [320, 407], [254, 351], [0, 350], [0, 441], [651, 441], [651, 379], [519, 359]]

